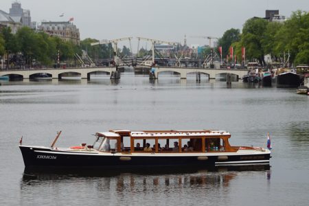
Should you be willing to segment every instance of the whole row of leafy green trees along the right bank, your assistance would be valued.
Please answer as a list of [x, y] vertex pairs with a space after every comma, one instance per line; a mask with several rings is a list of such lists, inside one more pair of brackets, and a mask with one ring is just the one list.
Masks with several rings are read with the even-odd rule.
[[239, 30], [230, 29], [218, 41], [222, 56], [234, 48], [238, 59], [242, 58], [242, 47], [246, 48], [248, 60], [258, 60], [264, 65], [264, 56], [271, 54], [277, 60], [284, 52], [290, 53], [290, 62], [309, 65], [309, 13], [296, 11], [283, 23], [265, 19], [248, 19]]

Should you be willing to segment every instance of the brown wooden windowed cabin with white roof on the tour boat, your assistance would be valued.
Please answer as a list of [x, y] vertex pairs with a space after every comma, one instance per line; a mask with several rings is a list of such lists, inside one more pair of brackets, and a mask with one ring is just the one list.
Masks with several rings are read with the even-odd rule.
[[[155, 153], [188, 153], [188, 152], [236, 152], [237, 147], [229, 144], [230, 133], [224, 130], [110, 130], [108, 133], [97, 133], [97, 137], [104, 137], [98, 150], [102, 151], [105, 139], [113, 140], [115, 148], [112, 152], [155, 152]], [[146, 144], [152, 142], [152, 149], [144, 151]], [[124, 143], [129, 145], [124, 146]], [[165, 144], [161, 147], [159, 142]], [[171, 144], [176, 142], [178, 150], [173, 150]], [[139, 143], [141, 148], [137, 148]], [[108, 141], [109, 144], [109, 141]], [[190, 144], [190, 150], [183, 148], [184, 144]], [[188, 146], [188, 145], [187, 145]]]

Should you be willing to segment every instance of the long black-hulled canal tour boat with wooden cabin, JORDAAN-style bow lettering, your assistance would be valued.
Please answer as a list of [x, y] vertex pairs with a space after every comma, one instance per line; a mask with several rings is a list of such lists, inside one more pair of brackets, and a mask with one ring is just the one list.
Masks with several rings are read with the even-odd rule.
[[96, 133], [93, 144], [69, 148], [54, 146], [60, 133], [50, 147], [21, 144], [25, 167], [268, 165], [271, 158], [267, 148], [231, 146], [225, 130], [110, 130]]

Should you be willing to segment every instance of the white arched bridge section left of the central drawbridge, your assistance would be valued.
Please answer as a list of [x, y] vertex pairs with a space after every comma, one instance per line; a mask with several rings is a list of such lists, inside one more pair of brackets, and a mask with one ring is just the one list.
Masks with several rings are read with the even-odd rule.
[[116, 67], [83, 67], [83, 68], [68, 68], [68, 69], [27, 69], [27, 70], [0, 70], [0, 76], [5, 75], [20, 75], [23, 76], [23, 79], [30, 79], [30, 76], [36, 73], [48, 73], [52, 75], [53, 79], [60, 79], [64, 73], [78, 73], [82, 79], [89, 79], [91, 73], [97, 71], [104, 71], [111, 74], [113, 71], [116, 71]]

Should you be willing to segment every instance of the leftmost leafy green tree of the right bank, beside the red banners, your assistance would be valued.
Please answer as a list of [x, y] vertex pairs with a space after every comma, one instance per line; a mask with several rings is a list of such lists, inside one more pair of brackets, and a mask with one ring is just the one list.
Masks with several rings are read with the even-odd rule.
[[225, 57], [229, 54], [229, 47], [232, 43], [240, 41], [240, 30], [231, 28], [225, 31], [222, 38], [218, 40], [218, 46], [222, 47], [222, 56]]

